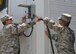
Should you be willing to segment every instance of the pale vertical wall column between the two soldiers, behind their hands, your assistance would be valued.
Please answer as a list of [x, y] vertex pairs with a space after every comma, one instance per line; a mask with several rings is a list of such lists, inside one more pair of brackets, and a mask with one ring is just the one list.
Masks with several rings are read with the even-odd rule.
[[[35, 4], [36, 15], [44, 17], [44, 0], [35, 0]], [[36, 26], [36, 54], [45, 54], [44, 25], [39, 22]]]

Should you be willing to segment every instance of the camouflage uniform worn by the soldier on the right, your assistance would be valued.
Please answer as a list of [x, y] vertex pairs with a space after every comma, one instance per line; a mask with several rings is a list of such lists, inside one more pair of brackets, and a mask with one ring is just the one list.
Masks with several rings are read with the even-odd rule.
[[[52, 21], [52, 20], [51, 20]], [[44, 20], [49, 28], [54, 30], [56, 34], [52, 34], [52, 39], [55, 40], [55, 46], [58, 54], [75, 54], [74, 43], [75, 34], [69, 27], [59, 27], [54, 25], [54, 22]]]

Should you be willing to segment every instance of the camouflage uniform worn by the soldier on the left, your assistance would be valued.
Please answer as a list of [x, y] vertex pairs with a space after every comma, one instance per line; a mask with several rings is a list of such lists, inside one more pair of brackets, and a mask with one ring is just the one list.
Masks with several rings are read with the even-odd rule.
[[4, 25], [0, 32], [0, 54], [20, 54], [19, 35], [33, 25], [34, 22], [18, 27], [15, 24]]

